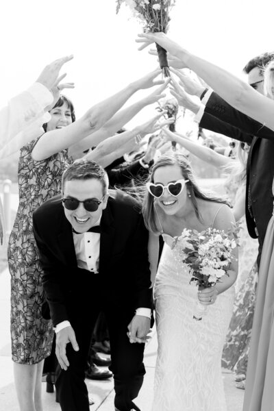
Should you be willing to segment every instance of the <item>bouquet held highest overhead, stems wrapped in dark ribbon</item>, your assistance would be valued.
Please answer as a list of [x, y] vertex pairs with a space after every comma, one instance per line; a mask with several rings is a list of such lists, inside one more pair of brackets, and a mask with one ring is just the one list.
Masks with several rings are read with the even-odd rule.
[[[170, 21], [169, 12], [175, 4], [175, 0], [116, 0], [116, 14], [122, 3], [128, 5], [133, 16], [141, 21], [144, 32], [167, 32]], [[169, 77], [166, 50], [158, 44], [156, 44], [156, 48], [164, 77]]]

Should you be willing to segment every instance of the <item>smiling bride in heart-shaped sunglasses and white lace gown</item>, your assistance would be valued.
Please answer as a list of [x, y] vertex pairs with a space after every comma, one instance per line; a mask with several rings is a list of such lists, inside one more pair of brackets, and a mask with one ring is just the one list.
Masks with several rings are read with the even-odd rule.
[[[158, 357], [153, 411], [225, 411], [221, 354], [234, 302], [236, 251], [229, 266], [232, 273], [216, 286], [198, 291], [190, 285], [189, 269], [176, 259], [173, 245], [184, 228], [226, 232], [234, 216], [223, 200], [199, 190], [188, 160], [180, 153], [155, 162], [147, 188], [143, 214], [151, 232], [152, 268], [157, 266], [158, 236], [164, 239], [155, 277]], [[201, 321], [193, 319], [198, 299], [208, 306]]]

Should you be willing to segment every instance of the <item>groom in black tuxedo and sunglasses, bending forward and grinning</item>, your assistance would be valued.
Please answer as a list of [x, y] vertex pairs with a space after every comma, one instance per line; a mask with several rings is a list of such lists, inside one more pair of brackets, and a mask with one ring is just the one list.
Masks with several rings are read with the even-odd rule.
[[43, 287], [56, 332], [56, 390], [65, 411], [88, 411], [85, 366], [101, 310], [110, 332], [115, 410], [138, 410], [145, 340], [150, 328], [148, 232], [139, 203], [91, 161], [64, 172], [62, 197], [34, 212]]

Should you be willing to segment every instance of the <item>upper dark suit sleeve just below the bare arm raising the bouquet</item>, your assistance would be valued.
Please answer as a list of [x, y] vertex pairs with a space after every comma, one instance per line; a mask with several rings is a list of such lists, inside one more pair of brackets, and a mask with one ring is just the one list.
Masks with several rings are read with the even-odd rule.
[[[212, 92], [212, 95], [210, 95], [206, 103], [205, 114], [206, 113], [216, 117], [223, 123], [227, 123], [227, 125], [236, 127], [242, 134], [245, 134], [245, 136], [241, 136], [241, 138], [239, 138], [239, 135], [234, 134], [233, 138], [236, 138], [236, 140], [248, 141], [247, 136], [249, 136], [249, 138], [251, 138], [251, 136], [258, 136], [260, 138], [274, 140], [274, 132], [271, 129], [264, 127], [264, 125], [258, 123], [258, 121], [236, 110], [215, 92]], [[205, 122], [210, 119], [212, 118], [206, 119]], [[200, 126], [206, 128], [201, 123]], [[225, 133], [223, 132], [222, 134]]]

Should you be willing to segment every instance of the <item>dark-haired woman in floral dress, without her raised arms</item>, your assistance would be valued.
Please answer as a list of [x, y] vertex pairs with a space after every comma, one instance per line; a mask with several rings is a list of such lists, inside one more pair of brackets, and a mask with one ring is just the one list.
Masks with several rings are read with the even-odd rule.
[[[51, 110], [51, 120], [45, 127], [47, 131], [51, 131], [57, 125], [64, 127], [73, 121], [73, 105], [62, 96]], [[51, 321], [43, 319], [41, 312], [44, 292], [42, 270], [32, 230], [32, 213], [44, 201], [60, 193], [62, 173], [69, 164], [66, 149], [45, 160], [35, 161], [32, 151], [39, 140], [40, 137], [21, 149], [18, 162], [19, 206], [8, 244], [12, 360], [21, 410], [42, 410], [38, 395], [42, 360], [51, 353], [53, 340]], [[32, 385], [31, 381], [36, 381], [36, 384]], [[27, 385], [28, 394], [23, 391]]]

